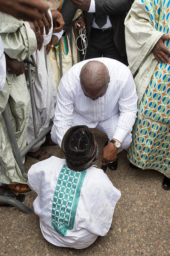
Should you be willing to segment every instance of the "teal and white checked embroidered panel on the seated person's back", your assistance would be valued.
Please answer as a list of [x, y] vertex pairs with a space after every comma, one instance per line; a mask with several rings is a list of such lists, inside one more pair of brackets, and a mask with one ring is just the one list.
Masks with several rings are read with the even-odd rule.
[[80, 192], [86, 171], [74, 172], [66, 164], [60, 171], [53, 198], [51, 225], [55, 231], [66, 236], [72, 230]]

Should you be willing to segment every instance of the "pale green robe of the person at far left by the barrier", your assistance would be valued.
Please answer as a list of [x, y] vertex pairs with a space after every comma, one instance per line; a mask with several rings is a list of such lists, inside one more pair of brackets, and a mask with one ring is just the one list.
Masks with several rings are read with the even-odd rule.
[[[10, 58], [22, 61], [37, 49], [37, 41], [28, 22], [0, 12], [0, 35], [4, 52]], [[0, 92], [0, 182], [4, 184], [27, 183], [14, 159], [2, 112], [8, 106], [19, 149], [26, 146], [29, 118], [29, 94], [25, 75], [11, 75], [6, 70], [6, 83]], [[24, 160], [24, 159], [23, 159]]]

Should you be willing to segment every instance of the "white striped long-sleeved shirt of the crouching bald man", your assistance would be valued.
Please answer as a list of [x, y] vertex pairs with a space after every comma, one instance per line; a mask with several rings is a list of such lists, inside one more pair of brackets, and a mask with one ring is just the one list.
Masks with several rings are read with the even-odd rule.
[[[106, 93], [97, 100], [84, 95], [79, 80], [82, 66], [92, 60], [103, 62], [110, 75]], [[61, 147], [63, 136], [72, 125], [83, 124], [95, 128], [113, 117], [116, 124], [108, 129], [112, 131], [112, 138], [123, 142], [127, 134], [131, 133], [136, 113], [137, 93], [129, 68], [110, 58], [84, 60], [72, 66], [61, 78], [51, 138]]]

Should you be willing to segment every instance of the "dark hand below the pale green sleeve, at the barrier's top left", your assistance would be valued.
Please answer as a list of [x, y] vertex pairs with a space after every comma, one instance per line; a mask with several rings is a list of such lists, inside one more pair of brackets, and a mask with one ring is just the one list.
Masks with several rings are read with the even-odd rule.
[[7, 54], [5, 54], [5, 58], [6, 58], [6, 66], [10, 74], [15, 74], [16, 76], [20, 76], [24, 73], [25, 64], [23, 61], [20, 62], [16, 59], [12, 59]]

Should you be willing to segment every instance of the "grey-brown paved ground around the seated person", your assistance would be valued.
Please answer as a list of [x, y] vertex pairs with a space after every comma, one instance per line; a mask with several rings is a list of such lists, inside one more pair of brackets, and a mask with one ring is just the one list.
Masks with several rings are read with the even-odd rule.
[[[100, 160], [106, 135], [93, 131], [100, 147]], [[59, 146], [46, 149], [63, 158]], [[121, 198], [105, 237], [98, 237], [94, 244], [82, 250], [59, 248], [43, 238], [39, 218], [34, 213], [26, 215], [16, 208], [0, 207], [0, 255], [170, 256], [170, 190], [162, 188], [164, 175], [154, 170], [131, 169], [126, 155], [125, 150], [118, 154], [117, 171], [108, 168], [106, 171], [114, 186], [121, 190]], [[34, 158], [27, 157], [25, 169], [35, 162]], [[32, 208], [36, 194], [27, 192], [25, 195], [24, 203]]]

